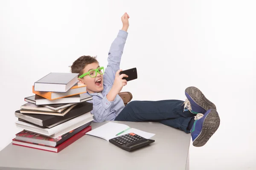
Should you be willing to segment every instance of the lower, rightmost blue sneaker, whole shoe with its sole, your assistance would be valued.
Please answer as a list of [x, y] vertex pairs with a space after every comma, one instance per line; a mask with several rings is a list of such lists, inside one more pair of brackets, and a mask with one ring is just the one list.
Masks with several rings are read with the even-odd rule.
[[193, 145], [195, 147], [204, 146], [218, 129], [219, 125], [220, 117], [216, 110], [210, 109], [204, 115], [198, 113], [195, 116], [194, 125], [190, 130]]

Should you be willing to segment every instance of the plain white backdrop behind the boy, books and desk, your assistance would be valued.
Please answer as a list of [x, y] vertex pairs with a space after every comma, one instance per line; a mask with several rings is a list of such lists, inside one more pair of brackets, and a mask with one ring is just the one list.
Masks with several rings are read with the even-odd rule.
[[184, 100], [186, 87], [198, 87], [221, 125], [204, 147], [190, 145], [190, 169], [256, 169], [255, 8], [253, 0], [1, 0], [0, 150], [20, 131], [14, 113], [33, 83], [70, 72], [82, 55], [106, 67], [128, 12], [121, 68], [137, 67], [138, 79], [123, 91], [133, 100]]

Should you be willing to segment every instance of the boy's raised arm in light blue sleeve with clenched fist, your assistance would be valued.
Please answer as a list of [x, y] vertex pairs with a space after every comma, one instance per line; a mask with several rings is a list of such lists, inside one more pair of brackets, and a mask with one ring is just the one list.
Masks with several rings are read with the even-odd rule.
[[119, 33], [115, 40], [112, 42], [108, 52], [108, 66], [105, 69], [104, 82], [108, 83], [109, 85], [113, 85], [116, 72], [120, 69], [121, 57], [128, 36], [128, 19], [129, 15], [127, 13], [121, 17], [123, 24], [122, 30], [119, 30]]

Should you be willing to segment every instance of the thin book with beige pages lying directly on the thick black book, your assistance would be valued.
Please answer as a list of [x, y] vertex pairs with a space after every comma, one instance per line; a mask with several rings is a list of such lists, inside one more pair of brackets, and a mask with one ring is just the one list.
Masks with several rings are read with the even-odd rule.
[[70, 106], [61, 112], [52, 112], [52, 111], [36, 111], [36, 110], [27, 110], [20, 109], [20, 113], [23, 114], [44, 114], [44, 115], [52, 115], [52, 116], [65, 116], [68, 112], [70, 112], [76, 105]]

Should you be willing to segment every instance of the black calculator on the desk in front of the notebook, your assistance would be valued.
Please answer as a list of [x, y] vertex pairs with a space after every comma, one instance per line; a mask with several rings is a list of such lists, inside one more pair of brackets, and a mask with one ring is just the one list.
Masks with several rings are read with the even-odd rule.
[[151, 144], [155, 141], [152, 139], [145, 139], [135, 133], [128, 133], [113, 139], [109, 139], [109, 142], [117, 147], [120, 147], [121, 149], [131, 151], [144, 147], [145, 145]]

